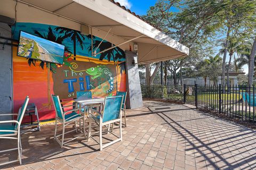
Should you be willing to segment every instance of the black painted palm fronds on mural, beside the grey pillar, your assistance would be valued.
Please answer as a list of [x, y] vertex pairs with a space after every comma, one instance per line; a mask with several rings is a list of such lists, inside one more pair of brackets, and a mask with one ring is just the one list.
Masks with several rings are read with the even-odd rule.
[[[108, 41], [102, 41], [102, 43], [100, 40], [93, 40], [93, 50], [97, 49], [98, 47], [98, 51], [97, 52], [101, 52], [102, 50], [105, 50], [107, 48], [110, 48], [112, 46], [115, 46], [114, 44], [111, 44], [109, 43]], [[91, 47], [88, 47], [87, 48], [90, 52], [91, 52]], [[119, 48], [119, 47], [116, 47], [116, 48], [112, 48], [112, 49], [109, 49], [107, 50], [106, 52], [104, 53], [101, 53], [99, 54], [100, 55], [100, 61], [102, 61], [103, 59], [106, 59], [108, 61], [111, 61], [113, 60], [114, 62], [118, 61], [118, 60], [122, 60], [125, 58], [125, 53], [124, 51]], [[120, 68], [120, 72], [122, 73], [123, 71], [125, 71], [125, 63], [122, 62], [119, 65], [119, 68]]]

